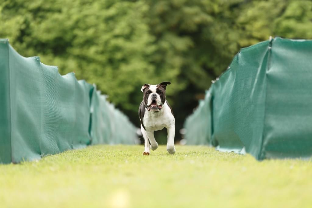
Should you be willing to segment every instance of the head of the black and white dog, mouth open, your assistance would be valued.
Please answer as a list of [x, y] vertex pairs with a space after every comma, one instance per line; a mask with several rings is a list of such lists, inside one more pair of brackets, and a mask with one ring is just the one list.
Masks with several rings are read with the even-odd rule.
[[162, 82], [158, 85], [144, 84], [141, 88], [145, 108], [157, 112], [163, 108], [166, 102], [166, 87], [170, 82]]

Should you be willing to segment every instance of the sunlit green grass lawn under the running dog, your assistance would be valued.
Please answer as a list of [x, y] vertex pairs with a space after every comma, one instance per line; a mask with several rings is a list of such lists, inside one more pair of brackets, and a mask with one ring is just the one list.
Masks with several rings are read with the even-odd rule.
[[0, 207], [311, 207], [312, 161], [92, 146], [0, 165]]

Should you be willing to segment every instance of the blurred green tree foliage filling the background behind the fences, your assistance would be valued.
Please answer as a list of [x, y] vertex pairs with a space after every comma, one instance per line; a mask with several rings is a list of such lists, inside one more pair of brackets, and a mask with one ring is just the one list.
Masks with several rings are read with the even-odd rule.
[[144, 83], [171, 81], [177, 129], [240, 48], [312, 38], [309, 0], [80, 0], [0, 3], [0, 37], [23, 56], [95, 83], [138, 122]]

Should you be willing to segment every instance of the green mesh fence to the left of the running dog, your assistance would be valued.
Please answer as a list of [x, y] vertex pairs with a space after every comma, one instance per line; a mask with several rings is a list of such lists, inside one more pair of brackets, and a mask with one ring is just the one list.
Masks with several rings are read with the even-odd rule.
[[[0, 39], [0, 163], [40, 159], [89, 144], [134, 144], [136, 128], [96, 87], [61, 76]], [[121, 126], [122, 125], [122, 126]]]

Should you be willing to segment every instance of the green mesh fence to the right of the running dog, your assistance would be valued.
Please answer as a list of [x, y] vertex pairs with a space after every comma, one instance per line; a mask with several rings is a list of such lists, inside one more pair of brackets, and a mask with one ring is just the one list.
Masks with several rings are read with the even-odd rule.
[[312, 41], [241, 49], [185, 122], [189, 144], [256, 159], [312, 156]]

